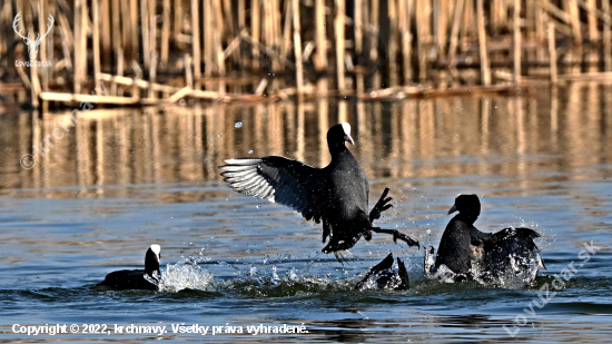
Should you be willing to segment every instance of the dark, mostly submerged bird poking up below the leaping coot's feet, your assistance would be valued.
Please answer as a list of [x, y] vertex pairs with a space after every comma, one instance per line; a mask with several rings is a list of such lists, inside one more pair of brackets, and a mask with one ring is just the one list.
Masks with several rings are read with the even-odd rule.
[[399, 257], [397, 257], [397, 271], [393, 268], [393, 253], [389, 253], [381, 263], [374, 265], [364, 278], [355, 285], [355, 289], [362, 289], [371, 277], [374, 278], [379, 289], [407, 291], [411, 288], [408, 271]]

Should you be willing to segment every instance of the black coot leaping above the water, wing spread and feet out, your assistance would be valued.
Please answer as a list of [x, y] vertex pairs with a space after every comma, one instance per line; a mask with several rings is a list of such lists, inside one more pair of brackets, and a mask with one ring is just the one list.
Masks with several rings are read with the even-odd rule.
[[345, 142], [355, 144], [351, 125], [338, 124], [327, 131], [327, 146], [332, 163], [317, 168], [284, 157], [227, 159], [219, 166], [224, 181], [235, 191], [267, 198], [302, 213], [307, 219], [319, 224], [323, 220], [323, 243], [329, 237], [323, 253], [334, 253], [353, 247], [363, 236], [372, 239], [372, 232], [393, 235], [393, 240], [404, 240], [408, 246], [418, 242], [396, 229], [375, 227], [373, 220], [391, 207], [391, 197], [385, 189], [377, 205], [369, 213], [367, 177]]

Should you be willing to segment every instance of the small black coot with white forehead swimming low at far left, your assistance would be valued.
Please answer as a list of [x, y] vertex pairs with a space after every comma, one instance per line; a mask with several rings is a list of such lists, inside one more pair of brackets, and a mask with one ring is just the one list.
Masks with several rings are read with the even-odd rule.
[[159, 276], [159, 259], [161, 257], [161, 247], [151, 245], [145, 255], [145, 269], [122, 269], [108, 274], [105, 281], [98, 283], [99, 286], [106, 285], [118, 291], [147, 289], [157, 291], [157, 285], [145, 278], [148, 276], [154, 281]]

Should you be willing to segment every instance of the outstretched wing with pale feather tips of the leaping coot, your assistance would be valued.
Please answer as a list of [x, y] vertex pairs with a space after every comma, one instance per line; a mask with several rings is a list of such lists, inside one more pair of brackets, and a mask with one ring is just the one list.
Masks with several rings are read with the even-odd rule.
[[267, 198], [293, 208], [306, 219], [320, 222], [322, 206], [329, 191], [322, 187], [326, 175], [320, 168], [283, 157], [227, 159], [219, 166], [224, 181], [235, 191]]

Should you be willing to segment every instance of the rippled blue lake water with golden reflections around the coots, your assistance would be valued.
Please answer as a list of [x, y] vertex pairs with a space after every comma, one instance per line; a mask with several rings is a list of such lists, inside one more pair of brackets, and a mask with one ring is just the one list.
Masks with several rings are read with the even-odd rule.
[[[69, 111], [4, 114], [0, 342], [609, 343], [611, 95], [611, 86], [573, 83], [512, 98], [187, 102], [91, 110], [75, 127]], [[371, 179], [371, 206], [391, 188], [394, 208], [381, 226], [437, 247], [456, 195], [478, 194], [482, 230], [526, 225], [542, 234], [547, 269], [536, 285], [425, 281], [423, 247], [384, 235], [362, 239], [343, 266], [320, 253], [320, 225], [223, 184], [224, 158], [282, 155], [325, 166], [326, 130], [339, 121], [353, 126], [349, 149]], [[32, 148], [41, 142], [45, 157]], [[27, 154], [29, 169], [20, 165]], [[591, 242], [598, 249], [585, 262]], [[162, 292], [96, 287], [112, 271], [141, 267], [154, 243], [169, 269]], [[407, 262], [412, 289], [353, 291], [389, 250]], [[572, 262], [571, 276], [555, 284]], [[68, 333], [27, 336], [14, 324], [66, 324]], [[82, 333], [83, 324], [167, 333]], [[174, 333], [181, 324], [221, 333]], [[260, 324], [307, 333], [248, 333]]]

